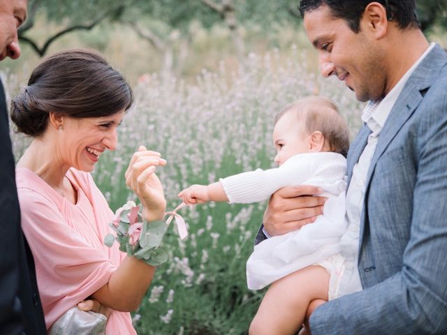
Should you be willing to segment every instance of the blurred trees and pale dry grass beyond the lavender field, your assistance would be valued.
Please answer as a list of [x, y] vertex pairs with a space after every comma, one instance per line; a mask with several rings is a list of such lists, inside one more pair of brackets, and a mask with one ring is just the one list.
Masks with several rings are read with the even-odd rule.
[[[425, 34], [447, 47], [447, 0], [416, 3]], [[288, 52], [291, 45], [312, 52], [298, 0], [29, 0], [20, 40], [22, 60], [3, 61], [2, 69], [27, 77], [45, 54], [89, 47], [133, 84], [142, 73], [193, 78], [222, 60], [232, 70], [249, 52]]]

